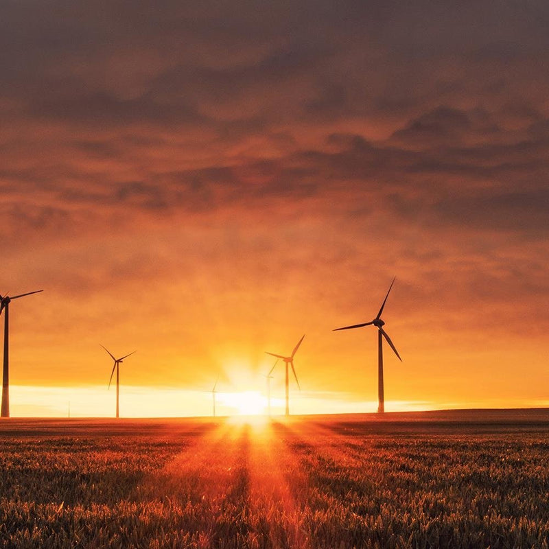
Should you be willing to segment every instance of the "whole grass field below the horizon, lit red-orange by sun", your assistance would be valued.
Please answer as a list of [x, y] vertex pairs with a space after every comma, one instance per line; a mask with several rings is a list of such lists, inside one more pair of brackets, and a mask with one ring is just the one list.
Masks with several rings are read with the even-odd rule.
[[0, 422], [2, 548], [547, 548], [549, 411]]

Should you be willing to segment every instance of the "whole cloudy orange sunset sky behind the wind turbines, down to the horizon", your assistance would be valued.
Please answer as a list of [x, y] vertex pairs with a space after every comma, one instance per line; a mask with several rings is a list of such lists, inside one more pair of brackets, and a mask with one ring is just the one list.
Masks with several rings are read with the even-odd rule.
[[200, 6], [3, 8], [12, 414], [546, 405], [546, 2]]

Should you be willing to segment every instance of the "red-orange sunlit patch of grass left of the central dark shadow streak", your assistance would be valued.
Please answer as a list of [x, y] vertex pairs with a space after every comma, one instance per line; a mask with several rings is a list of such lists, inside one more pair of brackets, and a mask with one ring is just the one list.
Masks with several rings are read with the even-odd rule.
[[152, 500], [159, 513], [192, 509], [186, 529], [195, 546], [245, 537], [248, 429], [224, 419], [205, 421], [202, 429], [186, 434], [185, 445], [170, 462], [143, 478], [139, 499]]

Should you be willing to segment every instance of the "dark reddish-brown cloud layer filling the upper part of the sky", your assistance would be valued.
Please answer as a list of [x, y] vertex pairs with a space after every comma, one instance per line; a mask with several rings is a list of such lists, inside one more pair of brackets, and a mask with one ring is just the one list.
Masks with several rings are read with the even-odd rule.
[[538, 242], [548, 21], [543, 1], [5, 2], [0, 235], [269, 215]]

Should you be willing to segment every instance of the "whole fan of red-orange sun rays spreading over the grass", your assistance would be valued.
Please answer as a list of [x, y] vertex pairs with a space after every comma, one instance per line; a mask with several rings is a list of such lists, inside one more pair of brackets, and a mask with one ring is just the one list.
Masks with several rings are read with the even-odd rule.
[[[204, 425], [140, 487], [145, 499], [193, 509], [189, 528], [202, 545], [229, 537], [249, 546], [312, 549], [327, 517], [364, 522], [325, 485], [327, 475], [345, 476], [364, 465], [367, 447], [353, 443], [340, 425], [240, 416]], [[312, 517], [312, 509], [323, 511]]]

